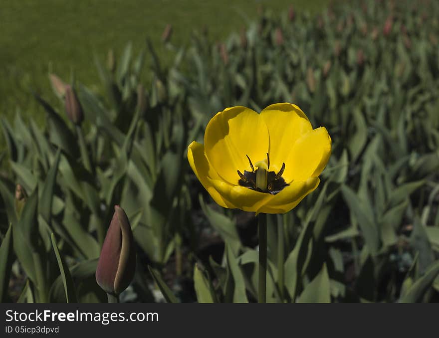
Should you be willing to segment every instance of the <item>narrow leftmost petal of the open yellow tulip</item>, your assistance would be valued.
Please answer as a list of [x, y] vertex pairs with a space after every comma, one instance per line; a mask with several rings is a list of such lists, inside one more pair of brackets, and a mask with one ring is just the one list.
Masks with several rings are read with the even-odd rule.
[[215, 202], [224, 208], [234, 208], [233, 205], [226, 202], [219, 192], [212, 185], [212, 179], [221, 179], [218, 173], [211, 167], [208, 159], [204, 153], [204, 145], [192, 142], [188, 147], [188, 161], [194, 170], [195, 175], [200, 180], [201, 184], [209, 192]]

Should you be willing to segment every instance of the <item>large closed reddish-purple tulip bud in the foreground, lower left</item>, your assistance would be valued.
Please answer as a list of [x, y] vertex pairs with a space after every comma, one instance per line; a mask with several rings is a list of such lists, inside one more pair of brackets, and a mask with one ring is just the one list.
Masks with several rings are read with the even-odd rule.
[[125, 211], [114, 207], [114, 215], [102, 245], [96, 282], [110, 295], [119, 295], [131, 283], [136, 270], [136, 252], [131, 225]]

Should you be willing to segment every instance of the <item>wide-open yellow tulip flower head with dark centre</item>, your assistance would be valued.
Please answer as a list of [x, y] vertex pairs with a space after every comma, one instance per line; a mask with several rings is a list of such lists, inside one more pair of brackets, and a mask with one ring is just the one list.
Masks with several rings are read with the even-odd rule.
[[290, 103], [260, 114], [226, 108], [207, 125], [204, 145], [188, 147], [189, 164], [219, 205], [256, 214], [294, 208], [319, 185], [330, 155], [326, 128], [313, 129]]

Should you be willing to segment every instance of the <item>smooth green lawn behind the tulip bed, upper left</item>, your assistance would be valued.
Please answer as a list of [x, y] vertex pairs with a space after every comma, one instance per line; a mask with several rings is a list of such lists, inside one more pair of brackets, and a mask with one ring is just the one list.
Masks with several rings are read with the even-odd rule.
[[[290, 5], [297, 11], [320, 11], [328, 0], [1, 0], [0, 116], [9, 121], [17, 111], [43, 123], [42, 109], [30, 95], [35, 90], [54, 101], [47, 74], [93, 87], [99, 84], [94, 55], [116, 57], [128, 41], [134, 52], [150, 37], [159, 57], [169, 61], [161, 35], [168, 23], [172, 41], [187, 45], [191, 32], [206, 27], [214, 40], [239, 31], [262, 5], [275, 13]], [[3, 137], [0, 148], [4, 147]]]

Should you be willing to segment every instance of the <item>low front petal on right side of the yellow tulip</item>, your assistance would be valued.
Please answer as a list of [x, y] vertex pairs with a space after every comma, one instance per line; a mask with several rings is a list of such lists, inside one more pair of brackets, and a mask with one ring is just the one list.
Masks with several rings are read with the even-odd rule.
[[264, 213], [285, 213], [294, 208], [320, 183], [318, 177], [308, 178], [306, 181], [293, 181], [290, 185], [283, 188], [273, 196], [257, 212]]

